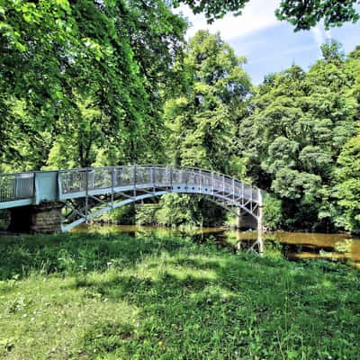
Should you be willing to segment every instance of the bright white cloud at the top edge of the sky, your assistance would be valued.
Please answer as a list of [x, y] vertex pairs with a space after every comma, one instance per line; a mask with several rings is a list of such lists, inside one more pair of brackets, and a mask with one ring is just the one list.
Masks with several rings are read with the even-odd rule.
[[187, 31], [187, 37], [192, 37], [198, 30], [207, 29], [211, 32], [220, 31], [222, 39], [230, 40], [280, 24], [275, 17], [275, 9], [279, 3], [280, 0], [251, 0], [240, 16], [227, 14], [211, 25], [206, 23], [202, 14], [194, 15], [188, 6], [180, 6], [176, 9], [176, 13], [183, 13], [192, 23]]

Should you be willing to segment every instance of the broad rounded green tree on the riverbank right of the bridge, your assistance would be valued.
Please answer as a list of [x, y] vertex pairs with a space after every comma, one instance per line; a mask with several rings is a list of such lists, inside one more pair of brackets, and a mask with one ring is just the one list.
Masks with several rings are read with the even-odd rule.
[[248, 175], [282, 200], [288, 229], [334, 229], [334, 169], [359, 118], [355, 60], [334, 42], [322, 50], [308, 73], [267, 76], [239, 129]]

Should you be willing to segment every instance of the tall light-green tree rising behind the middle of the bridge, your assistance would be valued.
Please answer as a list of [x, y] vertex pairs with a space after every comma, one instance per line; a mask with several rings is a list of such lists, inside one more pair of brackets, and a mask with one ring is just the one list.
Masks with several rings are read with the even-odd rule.
[[[237, 124], [247, 108], [247, 97], [251, 84], [242, 68], [244, 58], [220, 39], [219, 34], [198, 31], [184, 58], [175, 68], [183, 76], [183, 88], [179, 94], [165, 104], [166, 148], [175, 166], [195, 166], [238, 175], [236, 152]], [[175, 214], [187, 213], [192, 220], [202, 224], [220, 223], [224, 211], [214, 208], [206, 198], [178, 196], [164, 198], [160, 204], [164, 216], [173, 216], [168, 222], [179, 222], [183, 217]], [[187, 211], [189, 208], [196, 211]]]

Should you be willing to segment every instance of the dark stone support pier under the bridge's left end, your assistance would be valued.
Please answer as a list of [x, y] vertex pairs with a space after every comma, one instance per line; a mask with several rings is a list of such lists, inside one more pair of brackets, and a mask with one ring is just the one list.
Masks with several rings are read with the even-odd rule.
[[41, 202], [9, 209], [11, 214], [9, 231], [49, 234], [61, 231], [62, 202]]

